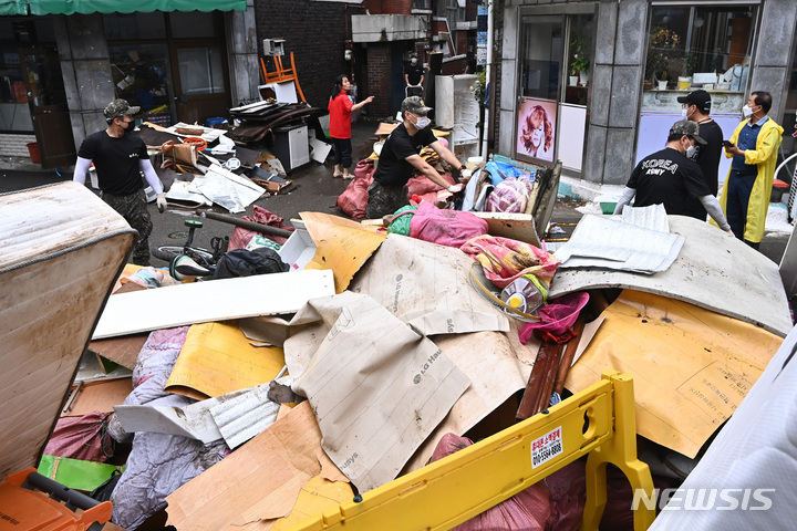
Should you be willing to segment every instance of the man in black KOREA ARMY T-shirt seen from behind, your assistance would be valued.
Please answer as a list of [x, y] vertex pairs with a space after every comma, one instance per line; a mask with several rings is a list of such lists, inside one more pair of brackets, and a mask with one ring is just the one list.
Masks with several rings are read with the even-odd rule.
[[700, 126], [689, 119], [675, 122], [666, 147], [640, 160], [631, 173], [614, 214], [622, 214], [623, 207], [635, 196], [634, 207], [663, 204], [669, 215], [705, 220], [705, 215], [695, 209], [693, 199], [697, 199], [720, 228], [733, 235], [720, 202], [703, 179], [700, 166], [691, 159], [695, 145], [705, 146], [698, 131]]

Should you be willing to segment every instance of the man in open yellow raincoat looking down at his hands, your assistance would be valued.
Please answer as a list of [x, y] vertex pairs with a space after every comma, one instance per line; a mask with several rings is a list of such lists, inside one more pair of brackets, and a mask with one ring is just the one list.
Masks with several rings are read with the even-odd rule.
[[736, 238], [758, 249], [772, 195], [783, 127], [767, 113], [772, 107], [768, 92], [751, 94], [745, 115], [725, 143], [725, 156], [733, 158], [731, 171], [720, 196], [725, 217]]

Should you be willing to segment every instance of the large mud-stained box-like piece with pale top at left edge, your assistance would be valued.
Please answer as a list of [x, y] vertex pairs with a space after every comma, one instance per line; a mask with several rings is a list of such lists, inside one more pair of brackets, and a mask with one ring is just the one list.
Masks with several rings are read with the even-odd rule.
[[39, 465], [135, 238], [75, 183], [0, 195], [0, 482]]

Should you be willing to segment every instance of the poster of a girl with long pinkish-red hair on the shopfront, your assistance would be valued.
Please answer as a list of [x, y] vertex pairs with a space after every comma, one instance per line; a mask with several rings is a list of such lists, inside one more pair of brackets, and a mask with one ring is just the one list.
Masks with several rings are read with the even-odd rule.
[[517, 153], [553, 162], [557, 103], [527, 98], [518, 111]]

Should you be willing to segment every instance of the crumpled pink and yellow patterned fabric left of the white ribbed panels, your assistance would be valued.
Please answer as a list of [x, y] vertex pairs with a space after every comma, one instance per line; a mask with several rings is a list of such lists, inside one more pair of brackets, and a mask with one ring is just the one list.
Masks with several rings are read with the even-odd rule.
[[498, 236], [479, 236], [467, 241], [460, 250], [482, 263], [487, 278], [501, 289], [524, 274], [534, 274], [550, 287], [560, 263], [542, 249]]

